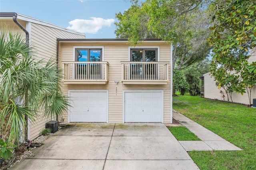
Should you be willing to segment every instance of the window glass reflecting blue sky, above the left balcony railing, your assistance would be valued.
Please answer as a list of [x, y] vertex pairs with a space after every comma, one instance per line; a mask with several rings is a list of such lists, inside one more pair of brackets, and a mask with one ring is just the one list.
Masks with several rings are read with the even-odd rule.
[[76, 61], [102, 61], [102, 49], [76, 48]]

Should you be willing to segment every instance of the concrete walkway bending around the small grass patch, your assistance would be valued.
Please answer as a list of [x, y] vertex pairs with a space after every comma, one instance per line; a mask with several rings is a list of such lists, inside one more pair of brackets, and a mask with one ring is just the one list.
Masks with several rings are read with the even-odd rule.
[[196, 134], [202, 141], [179, 141], [186, 151], [192, 150], [242, 150], [234, 144], [226, 141], [214, 132], [204, 128], [198, 123], [172, 110], [173, 118], [179, 121], [182, 126]]

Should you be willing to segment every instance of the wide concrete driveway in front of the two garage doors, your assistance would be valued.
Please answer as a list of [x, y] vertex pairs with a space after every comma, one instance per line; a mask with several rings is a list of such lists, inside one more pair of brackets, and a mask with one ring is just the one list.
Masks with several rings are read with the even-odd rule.
[[162, 123], [71, 123], [11, 170], [196, 170]]

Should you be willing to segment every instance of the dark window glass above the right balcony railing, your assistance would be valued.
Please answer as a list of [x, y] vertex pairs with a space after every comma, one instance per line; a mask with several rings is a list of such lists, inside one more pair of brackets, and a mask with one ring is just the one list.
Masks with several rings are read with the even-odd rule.
[[131, 49], [131, 61], [157, 61], [157, 49]]

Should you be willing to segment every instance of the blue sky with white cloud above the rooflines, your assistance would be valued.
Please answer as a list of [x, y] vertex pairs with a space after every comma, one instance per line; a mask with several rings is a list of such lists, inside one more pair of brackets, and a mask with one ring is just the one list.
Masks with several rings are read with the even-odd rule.
[[116, 38], [115, 14], [129, 0], [0, 0], [0, 12], [16, 12], [84, 32], [86, 38]]

